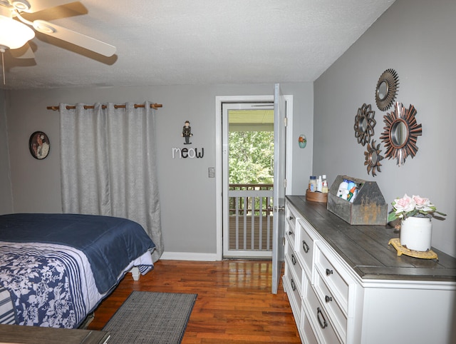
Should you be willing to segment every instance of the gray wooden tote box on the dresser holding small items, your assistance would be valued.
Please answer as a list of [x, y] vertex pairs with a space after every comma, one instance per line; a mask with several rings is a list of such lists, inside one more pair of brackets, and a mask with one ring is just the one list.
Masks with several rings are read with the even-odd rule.
[[[358, 187], [353, 203], [337, 196], [343, 179], [355, 182]], [[377, 183], [350, 176], [337, 176], [329, 189], [326, 208], [351, 225], [385, 226], [388, 218], [388, 205]]]

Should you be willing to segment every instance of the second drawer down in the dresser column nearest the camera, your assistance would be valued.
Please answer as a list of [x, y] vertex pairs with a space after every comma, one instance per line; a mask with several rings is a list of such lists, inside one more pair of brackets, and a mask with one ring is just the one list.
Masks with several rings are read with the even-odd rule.
[[326, 309], [326, 313], [328, 313], [331, 318], [334, 328], [339, 333], [341, 338], [346, 338], [346, 312], [343, 311], [341, 305], [338, 304], [337, 298], [335, 298], [328, 289], [328, 286], [325, 284], [323, 276], [321, 276], [320, 272], [315, 274], [314, 289], [316, 291], [316, 295], [318, 296], [318, 300], [320, 300], [320, 303]]

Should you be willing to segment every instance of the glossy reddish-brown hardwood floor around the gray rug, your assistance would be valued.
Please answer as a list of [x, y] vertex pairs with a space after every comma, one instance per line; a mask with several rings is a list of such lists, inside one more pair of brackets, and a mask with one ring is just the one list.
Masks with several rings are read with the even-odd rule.
[[159, 260], [139, 281], [128, 273], [88, 328], [103, 328], [133, 290], [197, 293], [183, 344], [301, 343], [284, 288], [271, 294], [271, 273], [270, 260]]

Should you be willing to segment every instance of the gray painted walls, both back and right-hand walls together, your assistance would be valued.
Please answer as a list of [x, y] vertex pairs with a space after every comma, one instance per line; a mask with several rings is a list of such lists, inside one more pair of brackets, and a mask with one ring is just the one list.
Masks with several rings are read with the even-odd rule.
[[[451, 141], [456, 127], [455, 13], [453, 0], [397, 0], [314, 86], [281, 85], [284, 94], [294, 95], [294, 138], [297, 141], [300, 133], [308, 138], [306, 148], [294, 146], [294, 184], [287, 193], [304, 193], [313, 171], [326, 173], [330, 183], [338, 174], [377, 181], [388, 203], [403, 193], [429, 197], [448, 214], [445, 221], [433, 221], [432, 245], [456, 256], [456, 159]], [[423, 136], [418, 137], [415, 158], [409, 157], [400, 168], [393, 160], [383, 160], [381, 172], [372, 177], [364, 166], [366, 146], [357, 143], [353, 124], [358, 108], [371, 103], [377, 121], [373, 138], [380, 143], [385, 112], [375, 106], [374, 93], [378, 77], [389, 68], [398, 71], [398, 101], [417, 108]], [[5, 149], [7, 133], [12, 196], [6, 182], [9, 171], [2, 162], [0, 188], [6, 197], [0, 211], [61, 212], [58, 113], [46, 106], [147, 99], [164, 106], [157, 116], [157, 151], [165, 251], [214, 253], [215, 181], [207, 178], [207, 167], [215, 165], [214, 98], [264, 94], [272, 94], [272, 85], [7, 91], [6, 99], [0, 98], [0, 104], [6, 100], [6, 119], [0, 108], [0, 149]], [[181, 145], [180, 130], [187, 119], [195, 133], [194, 147], [204, 147], [203, 159], [172, 159], [171, 148]], [[36, 130], [45, 131], [51, 140], [51, 153], [43, 161], [28, 152], [28, 137]], [[384, 154], [383, 144], [381, 148]]]

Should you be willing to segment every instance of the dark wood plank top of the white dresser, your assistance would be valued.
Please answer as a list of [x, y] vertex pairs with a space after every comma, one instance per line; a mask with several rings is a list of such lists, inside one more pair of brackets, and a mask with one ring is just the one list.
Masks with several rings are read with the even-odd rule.
[[326, 203], [306, 201], [306, 196], [286, 196], [312, 227], [363, 279], [456, 282], [456, 258], [432, 248], [438, 260], [398, 256], [391, 226], [352, 226], [326, 209]]

